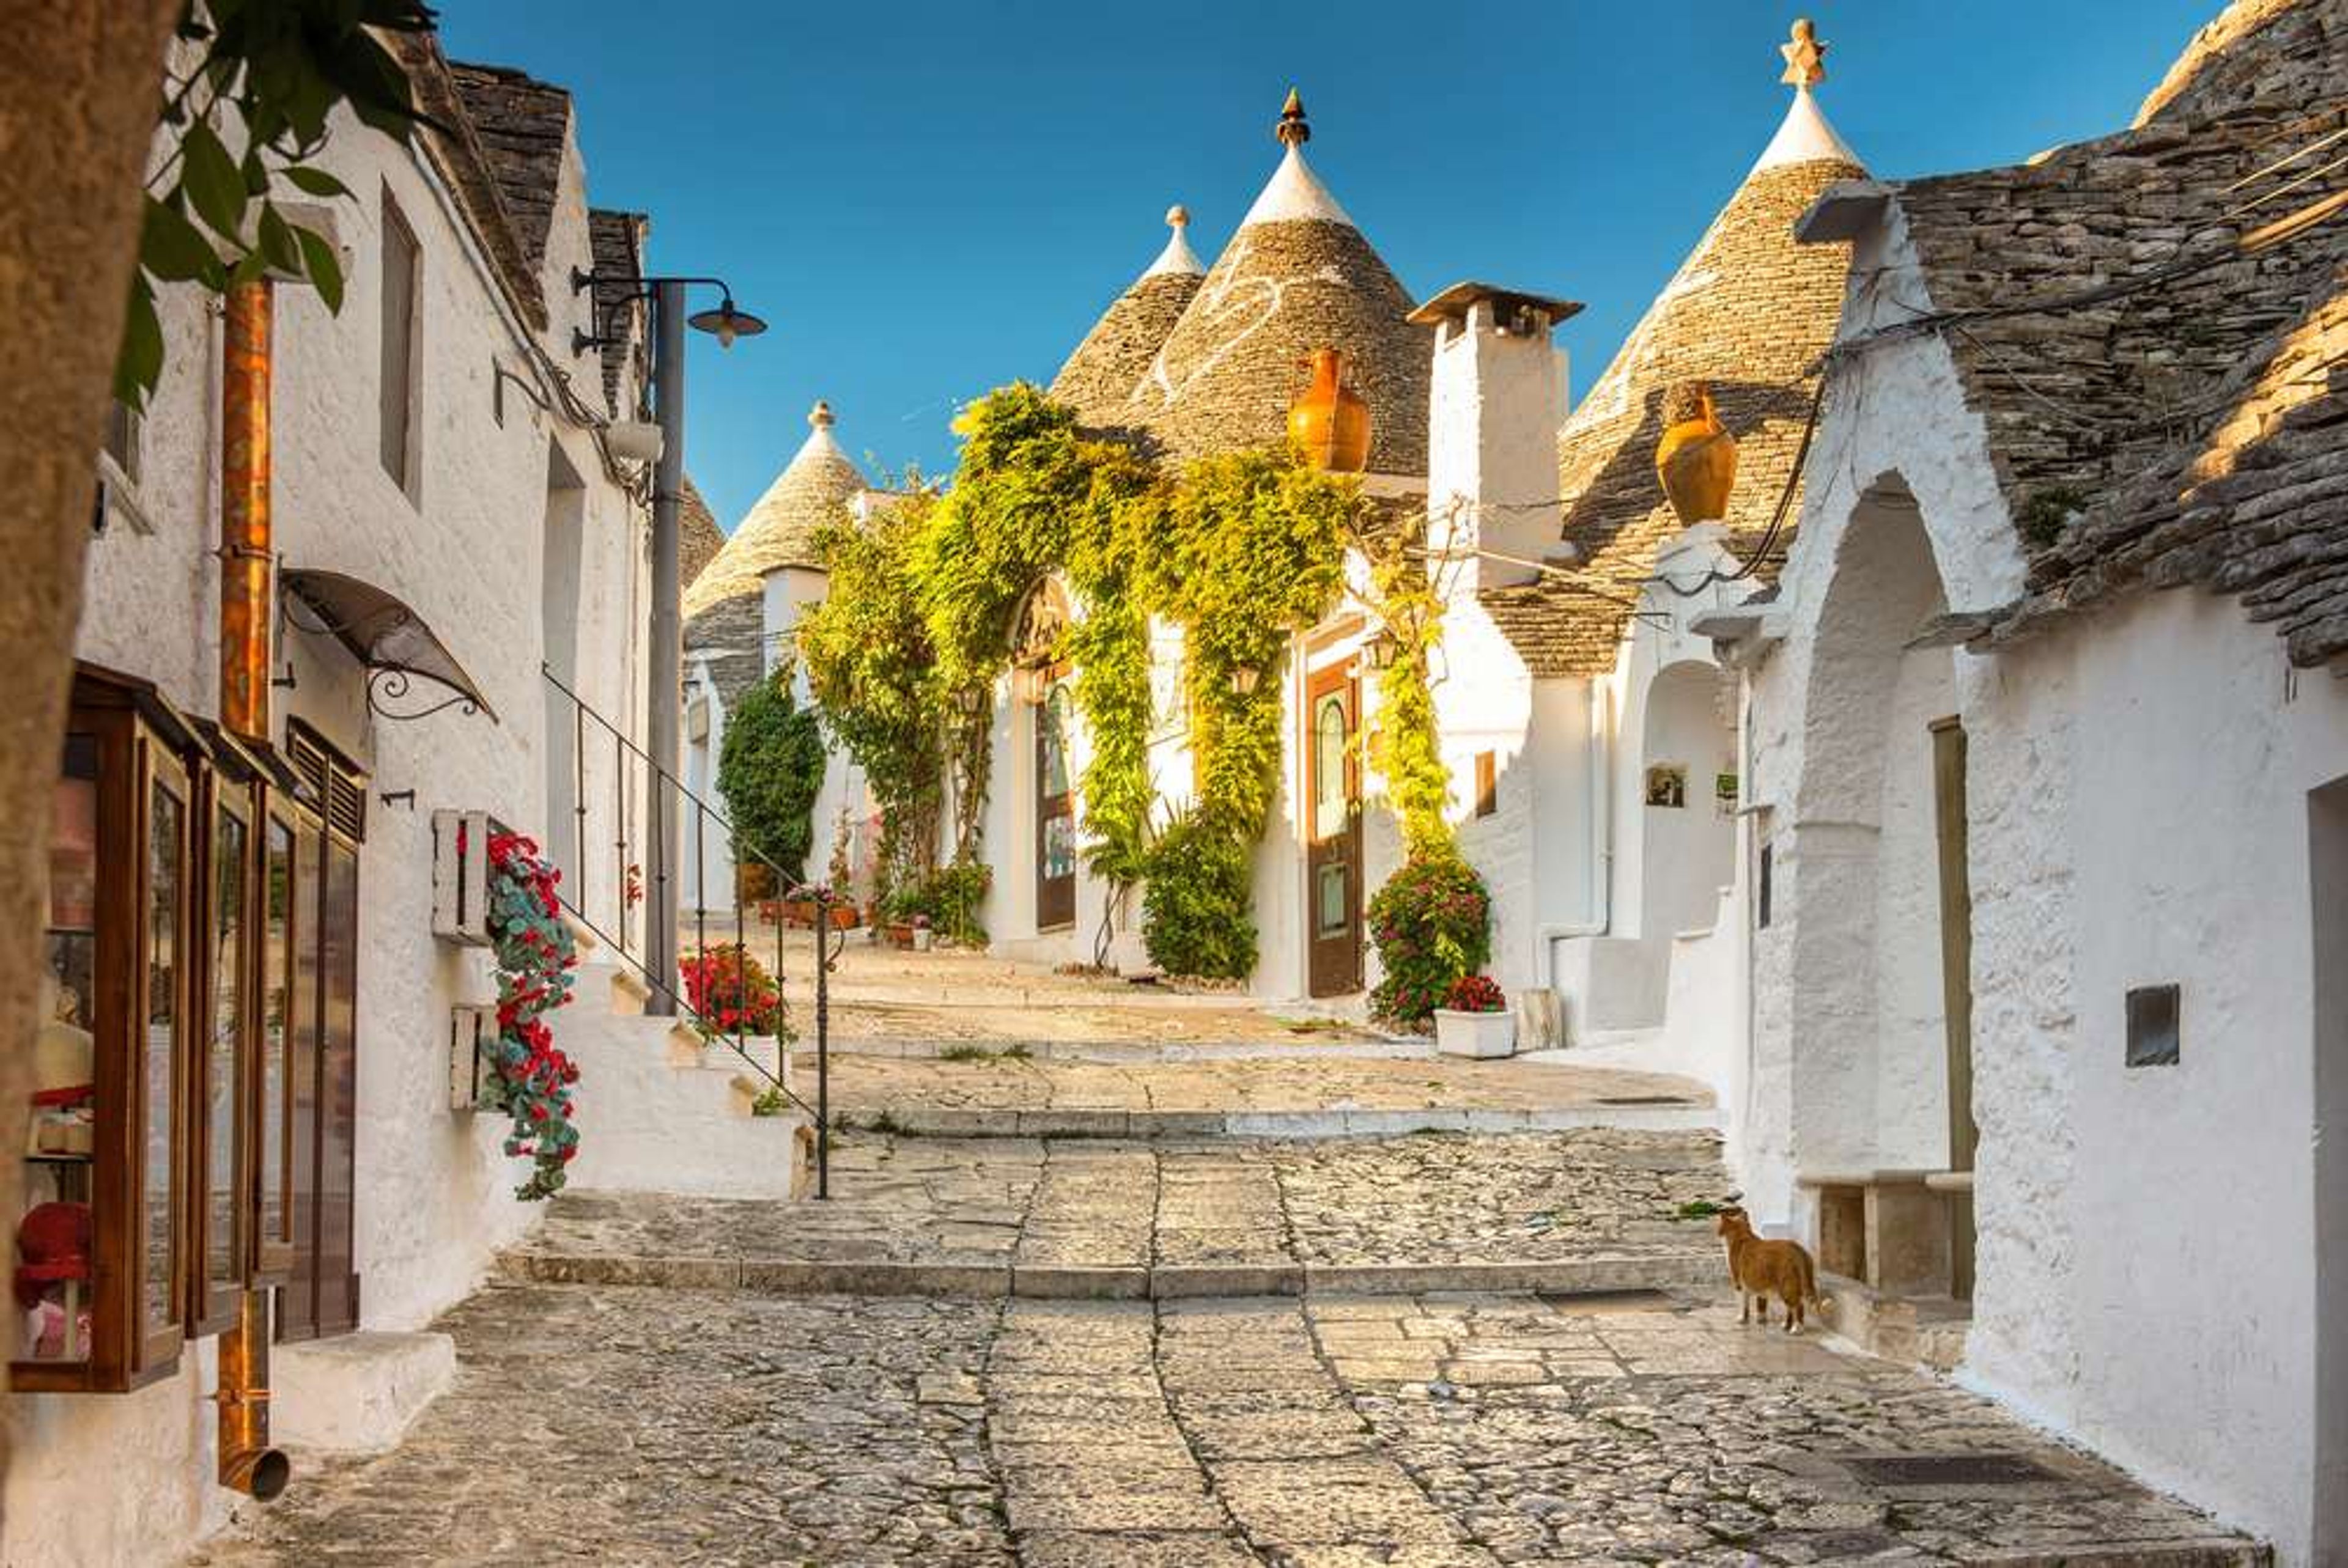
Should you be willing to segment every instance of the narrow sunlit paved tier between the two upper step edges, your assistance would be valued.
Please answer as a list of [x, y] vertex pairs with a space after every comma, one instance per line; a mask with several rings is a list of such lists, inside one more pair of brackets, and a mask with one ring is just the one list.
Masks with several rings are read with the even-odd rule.
[[[794, 1075], [815, 1077], [808, 1047]], [[1688, 1077], [1453, 1056], [1071, 1061], [834, 1054], [836, 1120], [949, 1138], [1331, 1138], [1409, 1131], [1702, 1129]]]

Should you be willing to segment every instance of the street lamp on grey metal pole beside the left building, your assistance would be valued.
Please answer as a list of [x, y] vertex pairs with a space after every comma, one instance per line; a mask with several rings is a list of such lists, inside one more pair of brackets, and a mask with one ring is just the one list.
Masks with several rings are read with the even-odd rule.
[[[571, 352], [585, 354], [589, 347], [610, 343], [601, 315], [632, 300], [653, 300], [653, 418], [660, 423], [660, 458], [653, 465], [653, 648], [646, 671], [646, 718], [643, 749], [653, 758], [653, 789], [662, 782], [676, 784], [681, 756], [679, 709], [686, 685], [683, 648], [683, 582], [679, 582], [676, 538], [679, 507], [686, 481], [686, 336], [679, 326], [704, 331], [718, 347], [733, 347], [735, 338], [756, 338], [765, 322], [737, 307], [733, 289], [721, 277], [636, 277], [599, 275], [571, 268], [571, 291], [582, 293], [594, 286], [618, 289], [599, 305], [594, 333], [571, 333]], [[723, 296], [716, 310], [686, 315], [686, 289], [707, 284]], [[650, 793], [650, 791], [648, 791]], [[653, 981], [646, 1012], [676, 1016], [676, 878], [674, 869], [683, 852], [683, 812], [664, 810], [660, 793], [653, 793], [653, 840], [650, 885], [646, 901], [643, 967]]]

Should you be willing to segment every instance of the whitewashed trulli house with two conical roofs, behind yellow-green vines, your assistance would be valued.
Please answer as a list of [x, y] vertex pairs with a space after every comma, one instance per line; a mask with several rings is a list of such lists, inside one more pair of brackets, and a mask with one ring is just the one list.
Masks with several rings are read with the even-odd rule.
[[[1298, 364], [1317, 347], [1343, 354], [1355, 390], [1371, 408], [1367, 488], [1411, 498], [1425, 488], [1428, 345], [1409, 322], [1411, 300], [1355, 221], [1305, 162], [1310, 136], [1291, 94], [1277, 136], [1284, 146], [1263, 192], [1205, 272], [1190, 251], [1188, 214], [1174, 209], [1174, 237], [1125, 289], [1052, 383], [1097, 430], [1146, 439], [1167, 460], [1240, 451], [1287, 439]], [[984, 817], [984, 852], [993, 890], [981, 920], [998, 951], [1050, 962], [1089, 962], [1104, 930], [1106, 885], [1078, 854], [1073, 793], [1043, 779], [1080, 777], [1089, 746], [1068, 697], [1073, 671], [1050, 664], [1059, 617], [1082, 615], [1066, 584], [1038, 587], [1021, 624], [1031, 631], [993, 702], [993, 770]], [[1369, 624], [1359, 613], [1331, 617], [1298, 638], [1280, 671], [1287, 732], [1331, 709], [1348, 744], [1367, 721], [1359, 653]], [[1270, 676], [1268, 676], [1270, 678]], [[1158, 730], [1151, 772], [1172, 810], [1190, 798], [1190, 751], [1181, 699], [1181, 634], [1158, 629]], [[1315, 836], [1298, 803], [1315, 789], [1345, 789], [1357, 800], [1362, 770], [1315, 777], [1296, 739], [1282, 770], [1256, 850], [1254, 915], [1261, 932], [1251, 986], [1261, 995], [1357, 998], [1364, 976], [1362, 906], [1392, 866], [1381, 831], [1343, 803], [1320, 819], [1338, 824]], [[1350, 819], [1350, 826], [1345, 826]], [[1390, 833], [1385, 836], [1390, 838]], [[1331, 920], [1308, 922], [1308, 880], [1338, 885]], [[1146, 962], [1134, 925], [1139, 901], [1115, 922], [1108, 958]]]

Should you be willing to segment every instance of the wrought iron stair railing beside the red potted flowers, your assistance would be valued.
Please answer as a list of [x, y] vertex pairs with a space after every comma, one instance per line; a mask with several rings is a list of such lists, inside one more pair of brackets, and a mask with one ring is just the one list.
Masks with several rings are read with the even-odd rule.
[[[845, 932], [834, 932], [831, 908], [836, 899], [826, 887], [801, 887], [789, 878], [782, 866], [758, 854], [754, 847], [744, 845], [735, 826], [709, 805], [702, 796], [686, 786], [669, 768], [653, 761], [653, 756], [627, 737], [625, 730], [613, 725], [603, 714], [599, 714], [587, 699], [571, 690], [561, 676], [552, 669], [540, 667], [545, 676], [549, 702], [547, 702], [547, 732], [561, 737], [568, 732], [571, 756], [571, 803], [559, 815], [568, 815], [568, 854], [564, 854], [564, 824], [549, 824], [549, 836], [556, 843], [547, 845], [547, 854], [561, 866], [564, 876], [559, 897], [564, 908], [575, 918], [587, 932], [594, 934], [606, 948], [627, 965], [655, 998], [667, 1005], [657, 1012], [674, 1012], [686, 1019], [695, 1033], [714, 1045], [733, 1049], [747, 1068], [768, 1082], [768, 1087], [782, 1094], [787, 1101], [805, 1110], [815, 1122], [815, 1195], [831, 1197], [831, 1007], [829, 1007], [829, 976], [831, 967], [838, 962], [841, 946], [845, 946]], [[608, 791], [608, 812], [594, 810], [599, 796]], [[556, 803], [549, 800], [549, 810]], [[632, 946], [632, 920], [636, 904], [646, 899], [679, 899], [681, 887], [676, 885], [669, 866], [655, 866], [650, 883], [643, 880], [641, 864], [634, 859], [643, 845], [660, 843], [660, 836], [669, 826], [683, 829], [679, 838], [686, 843], [686, 854], [693, 857], [693, 908], [681, 913], [681, 934], [693, 937], [693, 955], [700, 958], [709, 953], [709, 838], [711, 831], [723, 838], [721, 859], [730, 859], [735, 873], [728, 878], [733, 883], [733, 930], [728, 941], [749, 955], [754, 925], [770, 925], [772, 939], [763, 941], [768, 953], [772, 953], [775, 965], [775, 993], [777, 1005], [784, 993], [784, 934], [789, 930], [782, 918], [782, 904], [805, 901], [815, 908], [815, 1103], [808, 1103], [791, 1084], [784, 1082], [784, 1063], [789, 1061], [789, 1040], [777, 1033], [775, 1038], [775, 1068], [770, 1070], [749, 1052], [749, 1016], [747, 1009], [733, 1009], [735, 1021], [730, 1026], [714, 1016], [707, 1016], [693, 1005], [693, 998], [681, 986], [681, 974], [653, 974], [646, 955]], [[643, 838], [639, 840], [639, 826]], [[596, 831], [608, 833], [608, 843], [596, 838]], [[674, 840], [672, 840], [674, 843]], [[603, 861], [603, 850], [610, 850], [608, 869], [599, 871]], [[765, 866], [775, 887], [772, 915], [758, 908], [758, 901], [744, 904], [742, 899], [742, 876], [740, 869], [747, 864]], [[726, 911], [718, 911], [721, 937], [726, 925]], [[641, 944], [639, 944], [641, 946]], [[742, 984], [742, 972], [735, 972], [735, 984]]]

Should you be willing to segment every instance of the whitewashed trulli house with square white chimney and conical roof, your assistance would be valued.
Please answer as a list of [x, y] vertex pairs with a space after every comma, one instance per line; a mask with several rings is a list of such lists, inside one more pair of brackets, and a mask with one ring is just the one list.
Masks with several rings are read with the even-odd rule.
[[[1784, 122], [1561, 427], [1550, 326], [1576, 305], [1463, 284], [1418, 312], [1439, 324], [1437, 707], [1519, 1045], [1721, 1087], [1742, 1040], [1735, 688], [1691, 622], [1768, 582], [1792, 533], [1848, 268], [1792, 223], [1862, 171], [1820, 75], [1813, 54], [1787, 73]], [[1681, 519], [1655, 474], [1665, 408], [1695, 385], [1738, 444], [1719, 519]]]

